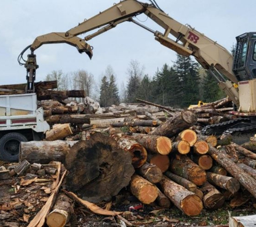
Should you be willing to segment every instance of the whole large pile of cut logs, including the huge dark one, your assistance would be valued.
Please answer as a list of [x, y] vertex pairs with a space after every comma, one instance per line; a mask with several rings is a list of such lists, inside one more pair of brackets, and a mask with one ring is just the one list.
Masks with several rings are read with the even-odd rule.
[[[173, 203], [188, 216], [199, 215], [203, 208], [219, 209], [225, 193], [231, 197], [249, 193], [256, 198], [256, 155], [248, 145], [229, 141], [219, 146], [220, 138], [200, 134], [203, 125], [233, 119], [226, 114], [231, 104], [228, 98], [193, 110], [148, 102], [108, 108], [89, 103], [86, 107], [76, 102], [40, 101], [52, 130], [44, 141], [20, 145], [18, 173], [26, 162], [36, 174], [41, 168], [34, 163], [60, 161], [67, 169], [65, 194], [55, 195], [54, 209], [47, 213], [49, 226], [67, 224], [74, 201], [99, 212], [92, 203], [111, 203], [123, 188], [143, 204], [168, 209]], [[0, 171], [0, 179], [1, 172], [6, 179], [6, 170]], [[65, 196], [72, 200], [64, 204]], [[108, 212], [98, 214], [119, 215]], [[57, 225], [56, 219], [65, 224]]]

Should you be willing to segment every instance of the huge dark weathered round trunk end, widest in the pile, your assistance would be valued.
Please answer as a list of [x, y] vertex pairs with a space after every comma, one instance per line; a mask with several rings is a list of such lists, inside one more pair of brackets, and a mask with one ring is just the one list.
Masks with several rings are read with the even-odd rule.
[[66, 186], [89, 202], [109, 201], [129, 184], [134, 173], [130, 153], [114, 139], [95, 133], [79, 141], [66, 155]]

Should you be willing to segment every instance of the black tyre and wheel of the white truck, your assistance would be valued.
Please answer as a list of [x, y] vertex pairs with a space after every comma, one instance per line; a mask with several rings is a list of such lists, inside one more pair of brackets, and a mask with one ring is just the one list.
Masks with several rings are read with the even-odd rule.
[[0, 139], [0, 158], [4, 161], [19, 160], [19, 143], [26, 142], [27, 138], [23, 134], [10, 132]]

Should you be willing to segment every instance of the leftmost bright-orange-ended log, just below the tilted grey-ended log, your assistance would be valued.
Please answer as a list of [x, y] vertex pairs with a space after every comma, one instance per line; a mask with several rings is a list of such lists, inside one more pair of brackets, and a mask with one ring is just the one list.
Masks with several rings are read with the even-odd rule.
[[133, 134], [132, 137], [147, 151], [163, 155], [171, 152], [171, 140], [168, 137], [143, 134]]

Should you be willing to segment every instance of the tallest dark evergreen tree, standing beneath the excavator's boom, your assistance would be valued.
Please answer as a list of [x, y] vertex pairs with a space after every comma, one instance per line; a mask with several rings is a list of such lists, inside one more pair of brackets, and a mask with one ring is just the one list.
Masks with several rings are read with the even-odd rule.
[[181, 107], [188, 108], [189, 105], [198, 103], [199, 97], [199, 74], [198, 63], [177, 54], [174, 65], [175, 73], [181, 79], [182, 94], [180, 97]]

